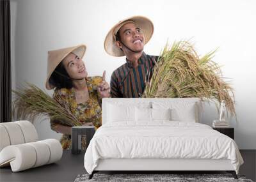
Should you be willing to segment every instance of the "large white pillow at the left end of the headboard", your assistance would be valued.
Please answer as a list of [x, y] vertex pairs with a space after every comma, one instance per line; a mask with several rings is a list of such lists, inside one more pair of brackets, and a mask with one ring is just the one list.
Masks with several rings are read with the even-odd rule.
[[108, 104], [107, 122], [135, 121], [135, 107]]

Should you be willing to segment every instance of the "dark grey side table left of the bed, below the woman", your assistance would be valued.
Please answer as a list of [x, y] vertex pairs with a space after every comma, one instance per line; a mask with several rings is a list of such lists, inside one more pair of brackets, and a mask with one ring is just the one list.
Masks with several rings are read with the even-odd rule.
[[95, 133], [95, 126], [73, 126], [71, 129], [72, 154], [79, 154], [82, 148], [82, 135], [86, 136], [86, 148]]

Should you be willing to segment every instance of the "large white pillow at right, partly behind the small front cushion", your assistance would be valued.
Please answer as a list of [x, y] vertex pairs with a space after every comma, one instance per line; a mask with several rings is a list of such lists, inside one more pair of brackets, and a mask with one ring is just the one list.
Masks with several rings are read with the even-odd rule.
[[199, 108], [197, 102], [177, 102], [175, 104], [166, 102], [153, 102], [153, 109], [170, 108], [172, 121], [199, 122]]

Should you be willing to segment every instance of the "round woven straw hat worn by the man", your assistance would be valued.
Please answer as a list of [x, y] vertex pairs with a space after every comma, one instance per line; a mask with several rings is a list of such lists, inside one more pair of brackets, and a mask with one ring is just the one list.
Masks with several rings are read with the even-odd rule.
[[116, 33], [122, 26], [124, 26], [124, 24], [130, 23], [130, 22], [133, 22], [134, 24], [136, 24], [136, 26], [142, 29], [145, 36], [145, 44], [152, 37], [152, 34], [154, 32], [154, 25], [151, 22], [151, 20], [147, 19], [146, 17], [135, 16], [135, 17], [130, 17], [128, 19], [122, 20], [111, 28], [111, 30], [108, 32], [105, 38], [104, 49], [109, 55], [117, 56], [117, 57], [124, 56], [124, 52], [120, 50], [119, 47], [116, 46], [116, 43], [115, 43]]

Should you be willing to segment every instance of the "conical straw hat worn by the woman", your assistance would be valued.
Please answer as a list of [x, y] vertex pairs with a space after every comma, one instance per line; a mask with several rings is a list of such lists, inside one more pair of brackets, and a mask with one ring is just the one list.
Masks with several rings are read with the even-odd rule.
[[58, 49], [58, 50], [51, 50], [48, 51], [48, 61], [47, 61], [47, 79], [45, 83], [45, 87], [47, 89], [53, 89], [54, 86], [52, 86], [49, 83], [49, 79], [52, 75], [52, 72], [54, 72], [55, 68], [60, 64], [60, 62], [68, 56], [70, 52], [76, 54], [76, 56], [80, 57], [80, 59], [83, 58], [84, 53], [86, 50], [86, 46], [81, 44], [74, 47], [67, 47], [64, 49]]

